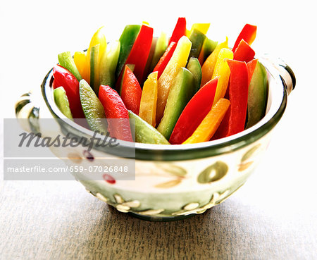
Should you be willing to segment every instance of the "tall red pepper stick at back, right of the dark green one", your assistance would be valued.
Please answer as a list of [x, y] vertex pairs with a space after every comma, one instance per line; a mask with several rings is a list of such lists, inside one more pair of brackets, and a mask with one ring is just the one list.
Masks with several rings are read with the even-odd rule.
[[135, 64], [135, 76], [140, 82], [143, 79], [144, 68], [147, 65], [152, 39], [153, 28], [148, 25], [142, 25], [127, 61], [125, 61], [125, 64]]

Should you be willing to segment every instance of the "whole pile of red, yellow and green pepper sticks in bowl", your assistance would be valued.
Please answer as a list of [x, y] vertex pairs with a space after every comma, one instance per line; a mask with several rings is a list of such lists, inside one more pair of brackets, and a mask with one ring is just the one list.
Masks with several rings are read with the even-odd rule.
[[[254, 77], [263, 74], [250, 47], [256, 26], [245, 25], [230, 49], [228, 37], [219, 44], [206, 37], [209, 25], [187, 30], [186, 19], [178, 18], [171, 36], [158, 38], [147, 23], [127, 25], [109, 44], [101, 27], [87, 51], [58, 54], [56, 104], [68, 118], [134, 118], [136, 142], [191, 144], [241, 132], [265, 114], [266, 91], [261, 112], [251, 109], [253, 78], [267, 84], [266, 75]], [[126, 125], [89, 127], [132, 141]]]

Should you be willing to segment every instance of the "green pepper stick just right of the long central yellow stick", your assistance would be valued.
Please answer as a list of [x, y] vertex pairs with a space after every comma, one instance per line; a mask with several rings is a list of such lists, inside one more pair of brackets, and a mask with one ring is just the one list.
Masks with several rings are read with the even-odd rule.
[[170, 138], [182, 110], [194, 95], [194, 90], [194, 76], [187, 68], [180, 68], [170, 87], [164, 115], [157, 127], [166, 139]]

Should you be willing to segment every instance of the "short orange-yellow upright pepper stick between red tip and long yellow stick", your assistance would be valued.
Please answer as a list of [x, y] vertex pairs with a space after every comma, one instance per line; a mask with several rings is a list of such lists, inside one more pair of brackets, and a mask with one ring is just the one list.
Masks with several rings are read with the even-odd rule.
[[147, 77], [139, 104], [139, 117], [154, 128], [156, 125], [157, 74], [155, 71]]

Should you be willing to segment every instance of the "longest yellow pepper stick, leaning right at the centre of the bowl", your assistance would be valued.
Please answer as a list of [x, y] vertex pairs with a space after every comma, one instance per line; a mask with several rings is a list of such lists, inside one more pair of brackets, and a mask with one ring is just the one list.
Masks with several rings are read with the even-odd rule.
[[186, 66], [191, 47], [192, 42], [186, 36], [180, 38], [173, 56], [159, 78], [157, 85], [156, 123], [161, 122], [170, 87], [180, 68]]

